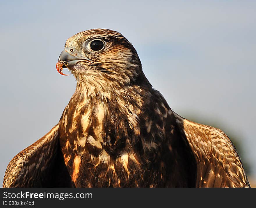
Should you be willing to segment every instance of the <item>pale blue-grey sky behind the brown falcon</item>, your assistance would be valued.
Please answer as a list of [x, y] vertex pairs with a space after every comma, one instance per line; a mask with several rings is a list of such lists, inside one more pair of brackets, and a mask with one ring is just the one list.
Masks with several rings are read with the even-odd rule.
[[[75, 90], [55, 65], [68, 37], [121, 32], [154, 88], [183, 117], [240, 138], [256, 176], [256, 1], [1, 1], [1, 161], [60, 119]], [[243, 159], [242, 158], [242, 159]]]

